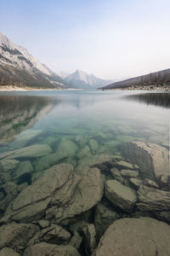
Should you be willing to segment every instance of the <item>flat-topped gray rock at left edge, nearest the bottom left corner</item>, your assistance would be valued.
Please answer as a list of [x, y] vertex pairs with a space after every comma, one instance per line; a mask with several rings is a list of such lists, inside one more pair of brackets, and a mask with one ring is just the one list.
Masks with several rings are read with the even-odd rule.
[[38, 230], [34, 224], [5, 224], [0, 227], [0, 248], [26, 247], [27, 242]]

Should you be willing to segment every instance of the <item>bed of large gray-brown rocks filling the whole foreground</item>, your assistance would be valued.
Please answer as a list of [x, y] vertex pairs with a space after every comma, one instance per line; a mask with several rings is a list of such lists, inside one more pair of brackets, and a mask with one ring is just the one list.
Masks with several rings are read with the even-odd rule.
[[168, 149], [95, 154], [91, 139], [88, 156], [83, 139], [0, 154], [0, 255], [170, 255]]

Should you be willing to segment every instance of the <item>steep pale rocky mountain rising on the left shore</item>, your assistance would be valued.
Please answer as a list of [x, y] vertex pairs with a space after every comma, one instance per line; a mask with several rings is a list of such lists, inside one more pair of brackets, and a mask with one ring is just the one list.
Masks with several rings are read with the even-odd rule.
[[65, 81], [0, 32], [0, 84], [64, 88]]

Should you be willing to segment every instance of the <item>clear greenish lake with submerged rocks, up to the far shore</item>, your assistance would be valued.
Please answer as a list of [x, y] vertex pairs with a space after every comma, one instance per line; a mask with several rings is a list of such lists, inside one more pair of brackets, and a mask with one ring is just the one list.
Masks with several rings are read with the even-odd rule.
[[116, 219], [170, 224], [169, 108], [168, 92], [1, 92], [0, 223], [61, 225], [38, 241], [81, 255]]

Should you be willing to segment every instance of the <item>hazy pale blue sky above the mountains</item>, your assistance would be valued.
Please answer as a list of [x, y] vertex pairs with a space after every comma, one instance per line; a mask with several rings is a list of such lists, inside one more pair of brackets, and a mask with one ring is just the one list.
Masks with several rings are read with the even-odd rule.
[[0, 0], [0, 31], [55, 72], [125, 79], [170, 67], [169, 0]]

